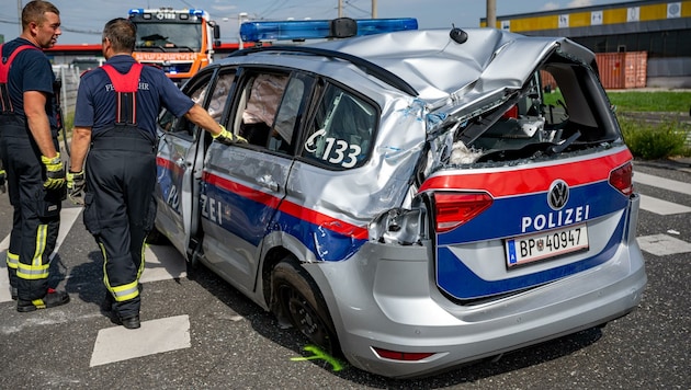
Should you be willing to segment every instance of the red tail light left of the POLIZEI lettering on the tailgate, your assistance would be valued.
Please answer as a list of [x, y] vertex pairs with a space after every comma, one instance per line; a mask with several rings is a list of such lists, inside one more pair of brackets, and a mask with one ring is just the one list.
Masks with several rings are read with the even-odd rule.
[[487, 193], [435, 193], [437, 232], [445, 232], [469, 221], [492, 203]]

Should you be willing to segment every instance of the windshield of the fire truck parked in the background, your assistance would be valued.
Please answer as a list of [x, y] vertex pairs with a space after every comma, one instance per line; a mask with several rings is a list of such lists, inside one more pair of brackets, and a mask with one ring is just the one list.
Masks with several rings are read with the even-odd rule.
[[137, 23], [137, 49], [199, 51], [202, 25], [190, 23]]

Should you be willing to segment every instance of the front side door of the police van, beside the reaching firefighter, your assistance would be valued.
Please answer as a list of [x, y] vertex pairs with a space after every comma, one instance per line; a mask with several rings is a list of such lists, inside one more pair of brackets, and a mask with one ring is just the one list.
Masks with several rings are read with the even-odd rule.
[[[217, 78], [216, 78], [216, 74]], [[216, 72], [208, 69], [191, 79], [183, 88], [195, 103], [220, 121], [234, 70]], [[209, 94], [209, 91], [213, 93]], [[175, 118], [163, 112], [159, 119], [160, 140], [157, 153], [156, 198], [157, 229], [186, 253], [192, 234], [196, 233], [199, 218], [199, 186], [206, 134], [186, 118]]]

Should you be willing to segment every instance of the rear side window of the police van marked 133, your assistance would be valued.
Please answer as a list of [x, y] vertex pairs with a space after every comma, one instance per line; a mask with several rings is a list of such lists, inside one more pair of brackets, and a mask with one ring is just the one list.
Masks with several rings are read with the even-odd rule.
[[360, 167], [370, 154], [377, 118], [370, 102], [329, 84], [309, 125], [302, 156], [336, 169]]

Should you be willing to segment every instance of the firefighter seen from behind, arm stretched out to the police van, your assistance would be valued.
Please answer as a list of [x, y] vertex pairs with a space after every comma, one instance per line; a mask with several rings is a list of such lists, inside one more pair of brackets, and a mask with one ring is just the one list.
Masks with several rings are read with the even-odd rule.
[[156, 217], [156, 121], [161, 105], [214, 139], [241, 139], [184, 95], [163, 71], [132, 57], [136, 39], [132, 22], [122, 18], [107, 22], [102, 38], [106, 62], [83, 73], [79, 83], [67, 186], [72, 202], [81, 203], [83, 195], [84, 226], [103, 253], [107, 292], [101, 309], [113, 321], [136, 329], [145, 239]]

